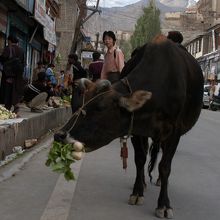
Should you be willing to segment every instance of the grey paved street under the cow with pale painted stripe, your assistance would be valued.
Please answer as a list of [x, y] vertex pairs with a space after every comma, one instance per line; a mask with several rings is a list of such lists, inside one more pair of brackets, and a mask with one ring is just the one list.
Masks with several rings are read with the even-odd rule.
[[[197, 125], [182, 137], [169, 179], [175, 219], [220, 219], [219, 131], [220, 112], [204, 110]], [[45, 139], [38, 146], [42, 148], [39, 153], [14, 177], [0, 183], [1, 220], [157, 219], [154, 209], [159, 188], [149, 181], [144, 205], [127, 204], [135, 177], [130, 143], [126, 171], [115, 140], [73, 164], [77, 181], [66, 183], [44, 165], [51, 141], [50, 137]], [[0, 174], [21, 160], [1, 168]], [[153, 175], [155, 180], [157, 172]]]

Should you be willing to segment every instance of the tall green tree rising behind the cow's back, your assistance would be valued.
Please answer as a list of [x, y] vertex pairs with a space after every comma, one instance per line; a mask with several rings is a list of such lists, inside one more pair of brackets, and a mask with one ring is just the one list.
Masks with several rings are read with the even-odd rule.
[[156, 8], [155, 1], [150, 0], [149, 5], [143, 8], [143, 15], [135, 25], [131, 36], [132, 49], [150, 42], [159, 33], [161, 33], [160, 10]]

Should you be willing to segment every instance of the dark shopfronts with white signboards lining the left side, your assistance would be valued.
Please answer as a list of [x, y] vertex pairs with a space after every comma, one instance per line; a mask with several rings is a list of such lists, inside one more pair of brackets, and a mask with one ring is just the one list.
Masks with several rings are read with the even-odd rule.
[[0, 2], [0, 52], [14, 35], [25, 52], [25, 77], [31, 81], [38, 61], [52, 62], [56, 48], [55, 19], [59, 4], [52, 0], [2, 0]]

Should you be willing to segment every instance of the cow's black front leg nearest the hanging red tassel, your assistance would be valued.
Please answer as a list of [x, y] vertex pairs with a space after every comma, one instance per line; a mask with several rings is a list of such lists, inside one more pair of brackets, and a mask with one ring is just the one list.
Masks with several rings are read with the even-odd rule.
[[136, 180], [133, 187], [133, 192], [129, 199], [130, 205], [142, 205], [144, 201], [144, 187], [145, 175], [144, 165], [146, 163], [147, 151], [148, 151], [148, 138], [134, 135], [131, 138], [131, 142], [134, 147], [134, 160], [136, 165]]

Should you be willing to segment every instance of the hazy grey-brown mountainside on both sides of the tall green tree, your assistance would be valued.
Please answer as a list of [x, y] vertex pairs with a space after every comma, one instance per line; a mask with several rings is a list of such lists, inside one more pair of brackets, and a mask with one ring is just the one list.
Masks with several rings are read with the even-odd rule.
[[[97, 33], [103, 33], [105, 30], [131, 34], [134, 31], [137, 19], [143, 13], [143, 7], [146, 7], [148, 3], [149, 0], [141, 0], [125, 7], [101, 8], [100, 14], [96, 13], [84, 24], [85, 34], [91, 36], [93, 40], [96, 39]], [[187, 7], [194, 5], [194, 0], [156, 0], [155, 3], [156, 7], [161, 11], [161, 27], [164, 34], [173, 29], [180, 30], [187, 32], [183, 34], [188, 39], [188, 36], [192, 35], [191, 31], [195, 31], [196, 34], [197, 30], [200, 31], [201, 28], [198, 28], [198, 25], [185, 28], [187, 25], [183, 25], [179, 21], [180, 14]], [[173, 18], [173, 22], [171, 22], [172, 19], [170, 18]]]

